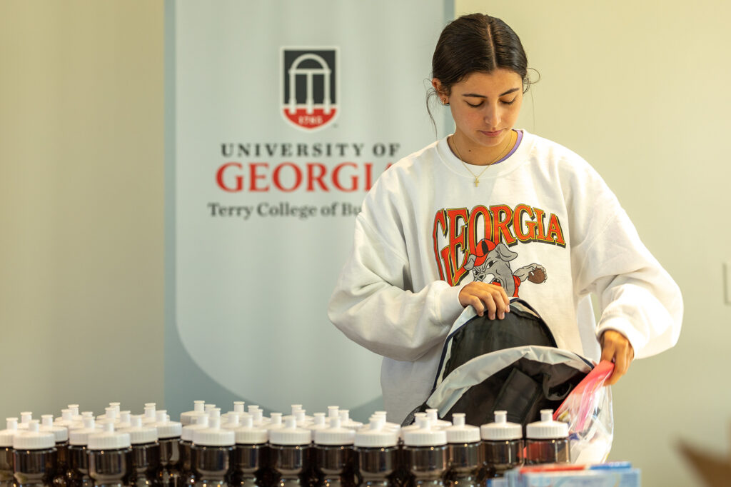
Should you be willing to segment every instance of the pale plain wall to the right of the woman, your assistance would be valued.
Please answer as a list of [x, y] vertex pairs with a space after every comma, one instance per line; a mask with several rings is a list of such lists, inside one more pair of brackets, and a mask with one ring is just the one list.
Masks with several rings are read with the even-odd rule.
[[721, 273], [731, 260], [731, 4], [457, 0], [455, 9], [502, 18], [518, 33], [541, 75], [520, 124], [594, 165], [680, 284], [677, 347], [636, 361], [613, 388], [610, 459], [642, 468], [644, 485], [700, 485], [679, 443], [731, 453]]

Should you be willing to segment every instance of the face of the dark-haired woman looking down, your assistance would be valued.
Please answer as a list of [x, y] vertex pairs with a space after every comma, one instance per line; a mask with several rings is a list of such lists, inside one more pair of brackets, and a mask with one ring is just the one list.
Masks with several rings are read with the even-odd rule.
[[479, 158], [502, 151], [523, 105], [523, 80], [518, 73], [503, 68], [473, 72], [452, 85], [449, 97], [440, 90], [439, 80], [434, 78], [432, 84], [440, 98], [450, 103], [462, 154], [470, 152]]

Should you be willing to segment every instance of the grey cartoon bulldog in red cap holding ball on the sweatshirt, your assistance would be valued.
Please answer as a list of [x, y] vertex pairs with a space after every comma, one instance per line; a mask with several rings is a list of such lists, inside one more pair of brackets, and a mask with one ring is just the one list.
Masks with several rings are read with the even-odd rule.
[[492, 275], [491, 284], [504, 287], [507, 295], [518, 297], [520, 283], [528, 279], [534, 284], [542, 284], [548, 279], [545, 268], [539, 264], [529, 264], [513, 272], [510, 261], [518, 257], [504, 243], [497, 245], [493, 241], [483, 238], [477, 243], [474, 254], [467, 258], [464, 268], [472, 271], [475, 281], [485, 282], [485, 277]]

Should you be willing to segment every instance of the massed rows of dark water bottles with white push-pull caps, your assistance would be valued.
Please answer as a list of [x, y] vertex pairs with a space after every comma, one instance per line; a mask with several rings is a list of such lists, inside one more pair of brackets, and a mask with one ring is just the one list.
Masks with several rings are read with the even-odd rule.
[[385, 412], [364, 425], [338, 407], [308, 416], [298, 404], [291, 415], [265, 417], [243, 402], [221, 414], [195, 401], [180, 422], [155, 404], [132, 415], [110, 403], [96, 418], [72, 404], [56, 420], [7, 418], [0, 487], [477, 486], [524, 462], [569, 460], [565, 423], [542, 415], [524, 445], [522, 426], [505, 412], [477, 427], [430, 409], [401, 427]]

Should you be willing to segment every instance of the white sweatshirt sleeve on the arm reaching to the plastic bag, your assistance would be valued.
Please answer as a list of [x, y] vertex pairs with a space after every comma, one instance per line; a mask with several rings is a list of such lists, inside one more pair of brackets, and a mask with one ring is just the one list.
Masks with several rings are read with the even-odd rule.
[[615, 195], [600, 181], [588, 211], [590, 234], [572, 257], [576, 289], [594, 292], [602, 309], [596, 337], [615, 330], [629, 339], [635, 358], [673, 347], [681, 331], [678, 284], [640, 241]]

